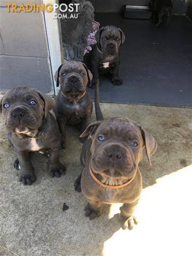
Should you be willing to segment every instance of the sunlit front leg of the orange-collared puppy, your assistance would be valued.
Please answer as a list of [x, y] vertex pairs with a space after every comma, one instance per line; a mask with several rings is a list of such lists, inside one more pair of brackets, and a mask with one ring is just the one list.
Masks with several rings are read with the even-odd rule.
[[119, 221], [123, 229], [133, 229], [134, 224], [138, 223], [137, 218], [132, 215], [137, 204], [138, 202], [132, 204], [123, 204], [123, 206], [120, 207], [121, 212], [119, 215]]

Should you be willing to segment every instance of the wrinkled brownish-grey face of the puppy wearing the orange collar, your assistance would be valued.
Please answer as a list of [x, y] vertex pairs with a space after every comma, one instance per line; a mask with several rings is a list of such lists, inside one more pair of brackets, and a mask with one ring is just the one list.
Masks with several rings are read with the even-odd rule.
[[92, 135], [91, 169], [102, 177], [130, 179], [142, 159], [141, 127], [126, 118], [110, 118]]

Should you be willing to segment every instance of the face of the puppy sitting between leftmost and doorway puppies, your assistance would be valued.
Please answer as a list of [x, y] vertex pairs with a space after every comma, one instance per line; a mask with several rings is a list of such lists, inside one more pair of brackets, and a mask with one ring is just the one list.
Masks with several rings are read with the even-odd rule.
[[69, 99], [78, 99], [86, 90], [89, 74], [82, 63], [67, 61], [59, 71], [62, 92]]

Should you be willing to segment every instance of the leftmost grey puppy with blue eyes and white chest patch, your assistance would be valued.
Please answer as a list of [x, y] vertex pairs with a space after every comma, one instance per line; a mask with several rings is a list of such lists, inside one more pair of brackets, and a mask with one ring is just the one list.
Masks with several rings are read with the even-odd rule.
[[15, 87], [2, 99], [8, 139], [17, 154], [14, 167], [21, 170], [20, 181], [24, 185], [31, 185], [35, 181], [31, 151], [49, 154], [52, 177], [65, 173], [66, 168], [59, 161], [59, 127], [49, 113], [53, 106], [53, 99], [28, 87]]

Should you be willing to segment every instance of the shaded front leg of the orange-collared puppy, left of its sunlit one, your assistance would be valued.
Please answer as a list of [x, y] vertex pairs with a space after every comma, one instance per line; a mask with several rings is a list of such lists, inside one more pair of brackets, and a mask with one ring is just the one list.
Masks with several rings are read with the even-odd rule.
[[95, 199], [88, 199], [89, 203], [85, 206], [85, 217], [89, 217], [90, 220], [93, 220], [99, 217], [102, 213], [103, 203]]

